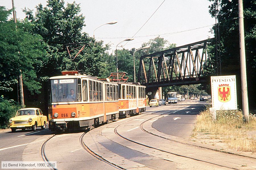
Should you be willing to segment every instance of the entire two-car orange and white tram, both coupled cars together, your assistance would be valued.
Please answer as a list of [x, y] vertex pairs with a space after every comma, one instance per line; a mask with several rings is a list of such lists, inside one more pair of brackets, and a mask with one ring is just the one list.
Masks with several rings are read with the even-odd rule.
[[92, 129], [146, 111], [145, 86], [63, 71], [48, 80], [49, 129]]

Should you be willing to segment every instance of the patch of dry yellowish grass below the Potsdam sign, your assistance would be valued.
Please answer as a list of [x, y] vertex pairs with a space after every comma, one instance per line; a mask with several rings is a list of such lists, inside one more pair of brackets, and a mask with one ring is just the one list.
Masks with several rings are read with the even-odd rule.
[[[248, 135], [248, 131], [255, 131]], [[250, 122], [243, 123], [241, 111], [219, 111], [216, 120], [208, 111], [197, 116], [197, 123], [192, 136], [198, 133], [207, 133], [211, 139], [220, 139], [228, 145], [241, 151], [256, 152], [256, 117], [250, 114]]]

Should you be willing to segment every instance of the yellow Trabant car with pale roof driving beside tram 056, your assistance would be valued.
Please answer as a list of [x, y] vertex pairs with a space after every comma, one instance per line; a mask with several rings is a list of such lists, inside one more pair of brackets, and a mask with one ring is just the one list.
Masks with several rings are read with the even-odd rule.
[[23, 131], [32, 129], [36, 131], [38, 126], [41, 126], [41, 129], [45, 129], [47, 117], [43, 115], [41, 109], [26, 108], [18, 110], [15, 117], [9, 120], [9, 123], [12, 132], [15, 132], [16, 129], [22, 129]]

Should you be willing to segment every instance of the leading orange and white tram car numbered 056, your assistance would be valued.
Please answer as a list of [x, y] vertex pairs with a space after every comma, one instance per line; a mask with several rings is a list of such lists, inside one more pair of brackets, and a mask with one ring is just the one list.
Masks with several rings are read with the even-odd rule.
[[119, 117], [118, 84], [78, 71], [48, 81], [49, 129], [89, 129]]

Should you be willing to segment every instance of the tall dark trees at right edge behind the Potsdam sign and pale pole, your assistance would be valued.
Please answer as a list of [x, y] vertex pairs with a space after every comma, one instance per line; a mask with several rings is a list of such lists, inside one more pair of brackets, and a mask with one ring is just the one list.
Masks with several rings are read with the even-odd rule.
[[[212, 5], [209, 12], [215, 16], [215, 0], [209, 0]], [[240, 80], [240, 47], [239, 47], [239, 25], [238, 25], [238, 1], [220, 0], [218, 3], [219, 31], [212, 28], [214, 35], [220, 35], [220, 61], [222, 75], [236, 75], [238, 89]], [[245, 53], [247, 61], [247, 84], [250, 107], [255, 107], [255, 79], [256, 79], [256, 2], [253, 0], [243, 1], [244, 27], [245, 27]], [[217, 32], [215, 31], [217, 30]], [[218, 45], [218, 44], [217, 44]], [[210, 47], [210, 53], [215, 54], [215, 46]], [[212, 55], [214, 56], [214, 55]], [[216, 60], [216, 58], [215, 58]], [[241, 90], [238, 92], [238, 103], [241, 103]]]

